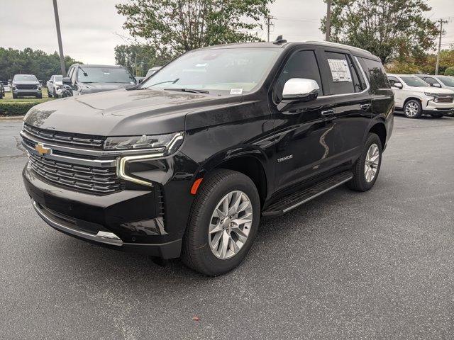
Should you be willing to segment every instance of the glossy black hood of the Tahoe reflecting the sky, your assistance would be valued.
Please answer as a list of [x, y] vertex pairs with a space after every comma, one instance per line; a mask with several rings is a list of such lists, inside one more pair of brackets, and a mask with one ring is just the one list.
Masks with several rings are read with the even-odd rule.
[[88, 135], [160, 135], [184, 131], [189, 112], [241, 101], [243, 96], [118, 90], [41, 103], [28, 111], [24, 121], [37, 128]]

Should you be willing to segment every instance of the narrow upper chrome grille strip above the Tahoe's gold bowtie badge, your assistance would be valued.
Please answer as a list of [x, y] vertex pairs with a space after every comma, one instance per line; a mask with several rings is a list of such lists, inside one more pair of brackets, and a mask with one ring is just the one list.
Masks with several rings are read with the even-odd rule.
[[101, 136], [40, 129], [28, 124], [23, 125], [23, 130], [41, 140], [48, 140], [63, 145], [86, 145], [88, 147], [101, 148], [104, 144], [104, 139]]

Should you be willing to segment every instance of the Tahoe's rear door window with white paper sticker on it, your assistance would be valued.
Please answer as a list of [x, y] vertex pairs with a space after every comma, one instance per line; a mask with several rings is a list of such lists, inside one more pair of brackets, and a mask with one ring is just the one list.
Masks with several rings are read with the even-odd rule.
[[329, 65], [331, 94], [353, 94], [362, 91], [358, 74], [348, 55], [325, 52]]

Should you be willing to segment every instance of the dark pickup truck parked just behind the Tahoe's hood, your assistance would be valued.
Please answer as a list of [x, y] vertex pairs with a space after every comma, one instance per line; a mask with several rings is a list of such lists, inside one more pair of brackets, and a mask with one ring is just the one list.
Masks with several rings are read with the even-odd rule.
[[[137, 85], [133, 75], [121, 66], [73, 64], [63, 78], [72, 95], [127, 89]], [[65, 95], [63, 95], [65, 96]]]

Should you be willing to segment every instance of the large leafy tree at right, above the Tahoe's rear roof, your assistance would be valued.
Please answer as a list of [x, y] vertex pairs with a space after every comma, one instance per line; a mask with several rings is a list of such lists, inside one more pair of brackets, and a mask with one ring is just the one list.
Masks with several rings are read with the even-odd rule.
[[[380, 57], [418, 57], [434, 47], [435, 22], [423, 16], [426, 0], [332, 0], [331, 41], [361, 47]], [[326, 17], [321, 21], [326, 32]]]

